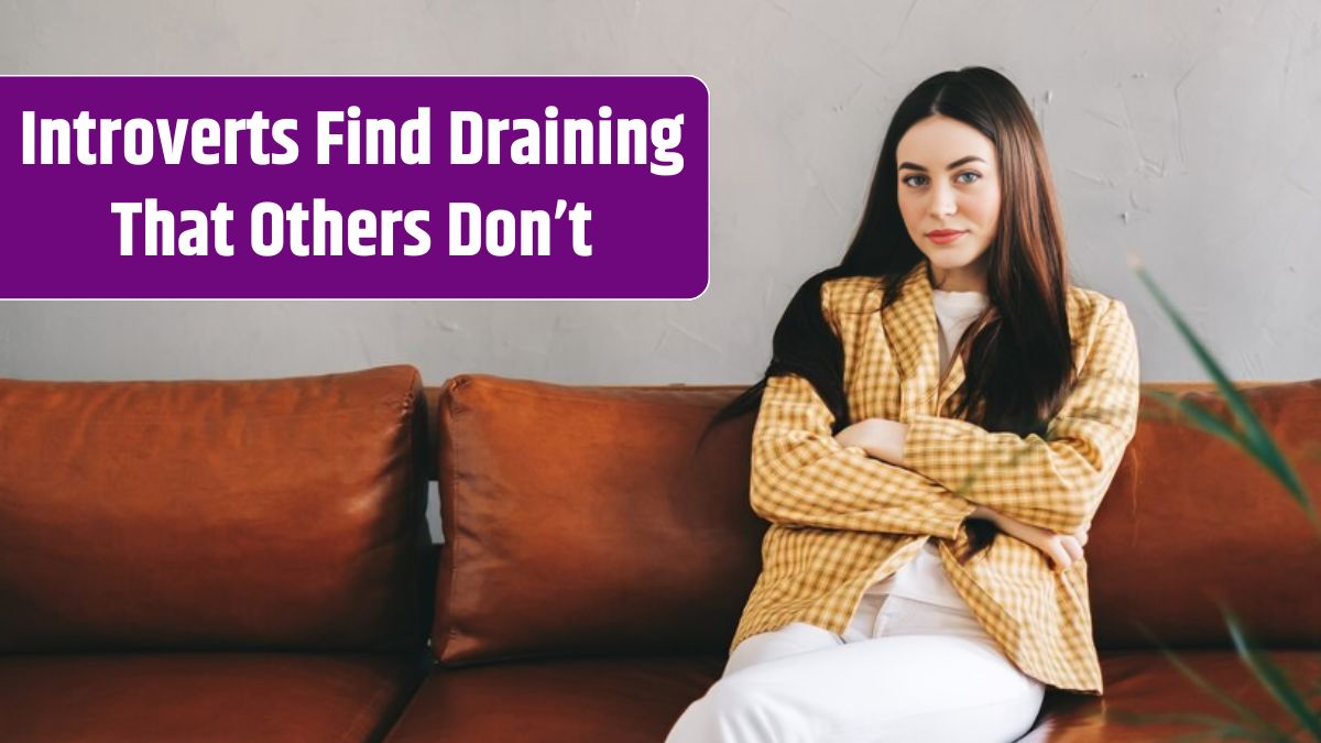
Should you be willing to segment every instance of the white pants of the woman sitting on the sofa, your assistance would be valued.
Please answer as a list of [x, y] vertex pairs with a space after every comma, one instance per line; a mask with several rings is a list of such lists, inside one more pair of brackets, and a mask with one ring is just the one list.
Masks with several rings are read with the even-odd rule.
[[971, 611], [867, 594], [843, 636], [795, 621], [745, 639], [666, 743], [1000, 743], [1044, 693]]

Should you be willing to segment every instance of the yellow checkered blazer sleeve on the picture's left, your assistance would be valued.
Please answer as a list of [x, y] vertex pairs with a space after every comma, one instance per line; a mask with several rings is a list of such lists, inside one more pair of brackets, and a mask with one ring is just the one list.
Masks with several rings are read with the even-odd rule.
[[770, 377], [753, 428], [753, 512], [781, 526], [958, 535], [976, 504], [910, 469], [841, 447], [811, 382]]

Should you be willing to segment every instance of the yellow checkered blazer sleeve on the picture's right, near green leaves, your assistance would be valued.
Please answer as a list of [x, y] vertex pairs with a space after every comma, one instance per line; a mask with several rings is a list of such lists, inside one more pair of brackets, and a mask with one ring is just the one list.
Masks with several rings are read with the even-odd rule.
[[904, 442], [908, 467], [1011, 518], [1058, 533], [1091, 521], [1137, 427], [1137, 341], [1111, 300], [1073, 391], [1046, 427], [1018, 436], [918, 415]]

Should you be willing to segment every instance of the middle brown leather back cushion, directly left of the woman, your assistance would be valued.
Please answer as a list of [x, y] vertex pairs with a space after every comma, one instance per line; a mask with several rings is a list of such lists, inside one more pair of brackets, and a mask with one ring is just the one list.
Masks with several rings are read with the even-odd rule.
[[439, 410], [445, 664], [715, 652], [761, 567], [740, 387], [450, 379]]

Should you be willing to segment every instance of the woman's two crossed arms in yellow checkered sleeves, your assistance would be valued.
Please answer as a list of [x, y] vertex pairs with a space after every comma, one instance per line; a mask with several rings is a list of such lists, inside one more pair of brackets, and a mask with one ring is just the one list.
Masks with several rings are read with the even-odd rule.
[[834, 416], [803, 377], [766, 381], [753, 430], [752, 509], [771, 524], [954, 539], [987, 506], [1058, 533], [1091, 522], [1137, 422], [1137, 345], [1112, 301], [1046, 438], [918, 415], [905, 467], [840, 446]]

